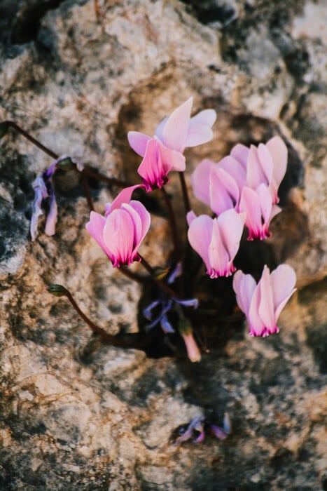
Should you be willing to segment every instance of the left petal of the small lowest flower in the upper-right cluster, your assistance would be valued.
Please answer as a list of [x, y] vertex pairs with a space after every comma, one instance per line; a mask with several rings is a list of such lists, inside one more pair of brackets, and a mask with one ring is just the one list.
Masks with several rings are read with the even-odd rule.
[[253, 238], [260, 238], [262, 235], [261, 206], [256, 191], [249, 187], [242, 189], [239, 211], [246, 213], [245, 224], [249, 229], [248, 240], [253, 241]]

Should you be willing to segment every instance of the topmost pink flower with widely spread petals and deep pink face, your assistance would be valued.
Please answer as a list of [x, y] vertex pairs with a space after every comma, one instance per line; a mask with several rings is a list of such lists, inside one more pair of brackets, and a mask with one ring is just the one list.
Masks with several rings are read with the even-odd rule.
[[162, 187], [171, 170], [185, 170], [183, 152], [186, 147], [212, 140], [211, 126], [216, 121], [216, 112], [214, 109], [205, 109], [191, 118], [192, 105], [193, 97], [190, 97], [161, 121], [154, 137], [139, 131], [128, 133], [130, 146], [144, 158], [137, 172], [142, 177], [146, 191]]

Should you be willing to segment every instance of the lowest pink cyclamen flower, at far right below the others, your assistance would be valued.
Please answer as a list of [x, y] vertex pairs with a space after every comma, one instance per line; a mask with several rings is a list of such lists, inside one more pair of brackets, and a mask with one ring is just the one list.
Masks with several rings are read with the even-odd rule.
[[237, 271], [232, 286], [239, 308], [246, 315], [250, 336], [267, 336], [279, 332], [277, 320], [296, 288], [295, 271], [281, 264], [270, 274], [265, 265], [258, 285], [250, 274]]

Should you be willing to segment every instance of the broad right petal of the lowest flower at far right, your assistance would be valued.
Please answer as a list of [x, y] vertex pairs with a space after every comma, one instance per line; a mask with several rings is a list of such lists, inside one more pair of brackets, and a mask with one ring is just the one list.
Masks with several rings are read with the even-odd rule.
[[296, 290], [294, 288], [296, 283], [294, 269], [288, 264], [280, 264], [277, 269], [272, 271], [271, 283], [274, 298], [274, 316], [277, 321], [281, 310]]

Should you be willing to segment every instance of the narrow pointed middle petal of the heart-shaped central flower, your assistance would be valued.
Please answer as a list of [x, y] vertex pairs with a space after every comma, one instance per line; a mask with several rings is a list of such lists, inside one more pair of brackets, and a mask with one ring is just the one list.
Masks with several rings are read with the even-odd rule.
[[221, 237], [221, 229], [218, 225], [217, 219], [214, 219], [212, 229], [212, 238], [209, 244], [209, 262], [211, 269], [208, 269], [207, 273], [210, 278], [218, 278], [218, 276], [230, 276], [232, 271], [228, 267], [230, 262], [230, 256], [223, 243]]

